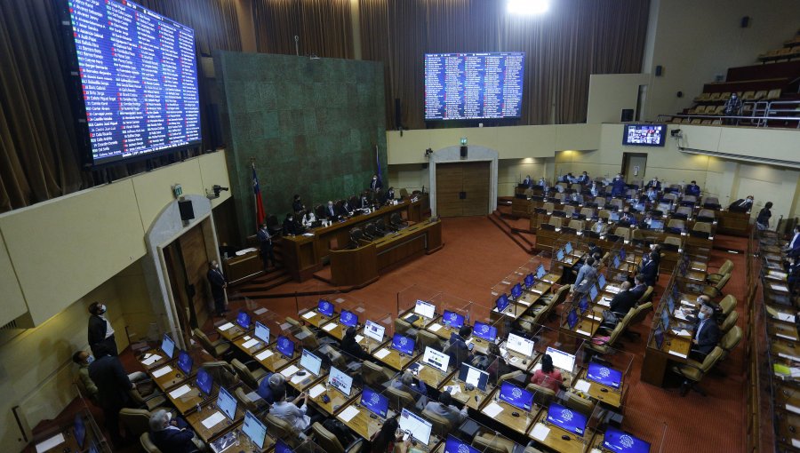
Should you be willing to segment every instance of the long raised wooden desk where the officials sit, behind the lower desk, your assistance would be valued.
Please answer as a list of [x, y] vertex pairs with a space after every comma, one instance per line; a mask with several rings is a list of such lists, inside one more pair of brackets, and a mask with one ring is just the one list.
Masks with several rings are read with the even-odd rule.
[[281, 238], [284, 266], [294, 280], [304, 282], [322, 268], [330, 250], [347, 246], [350, 242], [350, 229], [362, 227], [367, 222], [379, 219], [388, 224], [392, 214], [400, 214], [409, 222], [419, 222], [422, 219], [422, 204], [422, 199], [403, 200], [397, 204], [383, 206], [369, 214], [353, 215], [340, 222], [333, 222], [328, 227], [309, 229], [306, 234], [284, 235]]

